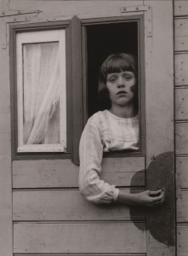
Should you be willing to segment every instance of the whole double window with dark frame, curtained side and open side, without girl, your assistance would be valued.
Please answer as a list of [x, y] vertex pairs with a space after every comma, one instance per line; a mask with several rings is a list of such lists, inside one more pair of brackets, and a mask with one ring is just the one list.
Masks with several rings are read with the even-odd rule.
[[103, 108], [99, 68], [115, 52], [138, 57], [140, 150], [134, 153], [145, 152], [143, 15], [20, 24], [11, 26], [10, 38], [15, 158], [51, 155], [79, 164], [83, 127]]

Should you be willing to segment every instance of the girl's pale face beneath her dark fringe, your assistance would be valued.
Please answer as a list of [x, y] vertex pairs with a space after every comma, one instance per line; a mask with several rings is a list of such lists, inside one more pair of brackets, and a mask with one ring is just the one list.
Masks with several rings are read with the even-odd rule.
[[109, 90], [111, 104], [121, 107], [128, 106], [134, 99], [136, 78], [133, 72], [109, 73], [106, 79], [106, 87]]

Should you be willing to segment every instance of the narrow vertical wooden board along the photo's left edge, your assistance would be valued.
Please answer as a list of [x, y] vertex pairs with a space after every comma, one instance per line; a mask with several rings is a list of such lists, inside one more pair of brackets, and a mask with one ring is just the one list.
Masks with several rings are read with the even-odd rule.
[[0, 254], [13, 255], [12, 240], [12, 177], [9, 91], [9, 49], [3, 49], [3, 20], [0, 20]]

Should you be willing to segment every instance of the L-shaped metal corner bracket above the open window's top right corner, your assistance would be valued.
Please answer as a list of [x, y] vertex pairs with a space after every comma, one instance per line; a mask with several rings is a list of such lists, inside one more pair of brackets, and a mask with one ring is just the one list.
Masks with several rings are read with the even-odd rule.
[[145, 12], [147, 37], [152, 37], [152, 9], [150, 5], [122, 7], [121, 13]]

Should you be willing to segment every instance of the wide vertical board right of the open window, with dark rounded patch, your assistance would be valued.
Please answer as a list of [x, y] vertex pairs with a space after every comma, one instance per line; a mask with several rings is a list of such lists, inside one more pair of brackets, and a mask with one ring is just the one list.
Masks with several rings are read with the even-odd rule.
[[151, 190], [165, 189], [166, 192], [162, 207], [147, 212], [147, 255], [174, 256], [173, 0], [145, 1], [145, 4], [152, 8], [153, 30], [153, 37], [145, 38], [146, 187]]

